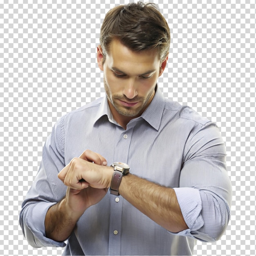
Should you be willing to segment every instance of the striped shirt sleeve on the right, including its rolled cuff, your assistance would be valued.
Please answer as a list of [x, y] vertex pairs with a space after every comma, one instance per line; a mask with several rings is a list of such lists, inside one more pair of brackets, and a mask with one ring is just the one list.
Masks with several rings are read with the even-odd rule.
[[204, 242], [218, 240], [230, 219], [231, 182], [225, 144], [215, 124], [197, 124], [184, 148], [180, 187], [174, 188], [189, 227], [180, 233]]

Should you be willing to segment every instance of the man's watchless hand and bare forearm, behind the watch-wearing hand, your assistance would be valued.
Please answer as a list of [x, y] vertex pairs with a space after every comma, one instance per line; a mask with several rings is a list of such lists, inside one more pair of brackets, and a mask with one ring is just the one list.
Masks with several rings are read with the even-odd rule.
[[[74, 161], [76, 162], [76, 168], [80, 168], [80, 170], [76, 171], [80, 172], [83, 172], [83, 167], [88, 162], [103, 166], [107, 165], [104, 157], [90, 150], [85, 150], [79, 158], [72, 159], [62, 171], [65, 173]], [[55, 241], [66, 240], [84, 211], [93, 204], [97, 204], [108, 191], [108, 188], [96, 189], [88, 185], [85, 186], [85, 181], [82, 181], [82, 183], [83, 189], [67, 187], [65, 198], [54, 204], [47, 211], [45, 234], [48, 238]]]

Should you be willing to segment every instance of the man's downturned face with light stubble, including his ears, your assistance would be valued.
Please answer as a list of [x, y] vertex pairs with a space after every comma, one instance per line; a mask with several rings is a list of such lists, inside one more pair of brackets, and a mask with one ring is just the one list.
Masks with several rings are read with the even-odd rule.
[[113, 117], [139, 117], [155, 95], [157, 78], [166, 66], [160, 63], [157, 50], [132, 52], [113, 40], [102, 65], [102, 50], [98, 47], [98, 64], [104, 72], [104, 87]]

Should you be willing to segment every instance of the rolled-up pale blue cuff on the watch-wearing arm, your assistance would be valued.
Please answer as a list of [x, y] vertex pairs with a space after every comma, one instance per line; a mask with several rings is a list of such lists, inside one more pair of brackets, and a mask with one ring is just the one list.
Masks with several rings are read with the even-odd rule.
[[201, 215], [202, 200], [199, 190], [194, 188], [174, 188], [174, 191], [182, 216], [190, 231], [200, 229], [204, 225], [204, 220]]

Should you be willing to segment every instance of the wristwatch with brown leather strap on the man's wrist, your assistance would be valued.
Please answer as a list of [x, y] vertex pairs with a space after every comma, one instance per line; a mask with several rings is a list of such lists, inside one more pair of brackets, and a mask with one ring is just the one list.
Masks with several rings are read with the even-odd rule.
[[110, 185], [110, 194], [119, 195], [118, 189], [122, 180], [123, 175], [126, 175], [130, 172], [130, 167], [128, 164], [115, 162], [111, 164], [114, 167], [114, 173], [112, 176], [112, 181]]

